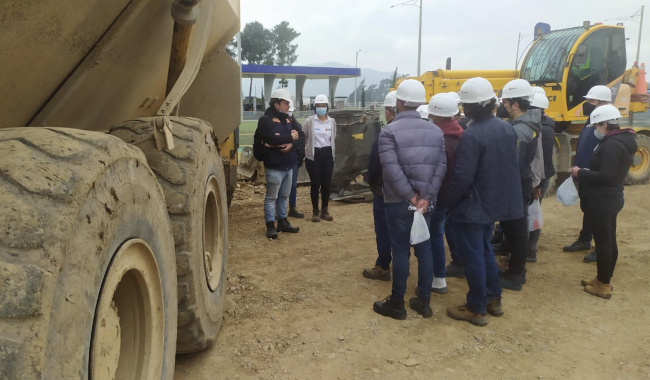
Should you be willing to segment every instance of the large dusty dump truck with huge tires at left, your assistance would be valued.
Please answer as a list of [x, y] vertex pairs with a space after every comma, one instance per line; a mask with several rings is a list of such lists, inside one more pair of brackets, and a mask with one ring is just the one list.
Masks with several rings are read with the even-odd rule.
[[222, 321], [239, 0], [0, 15], [0, 378], [173, 379]]

